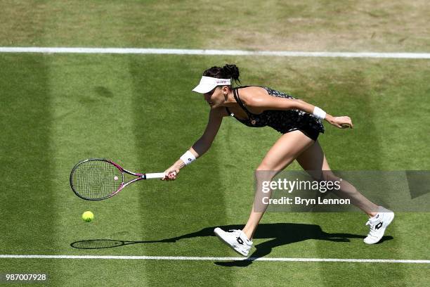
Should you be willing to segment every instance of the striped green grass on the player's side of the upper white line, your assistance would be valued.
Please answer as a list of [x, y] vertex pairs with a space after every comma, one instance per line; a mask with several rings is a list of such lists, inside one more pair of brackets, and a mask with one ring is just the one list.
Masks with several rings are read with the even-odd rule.
[[[9, 167], [1, 170], [7, 186], [1, 193], [1, 217], [8, 218], [1, 222], [5, 231], [0, 236], [1, 253], [236, 256], [217, 241], [211, 229], [245, 223], [252, 203], [253, 170], [278, 138], [278, 133], [271, 129], [247, 129], [226, 118], [209, 153], [181, 171], [175, 182], [139, 183], [119, 196], [97, 203], [79, 200], [68, 186], [71, 167], [88, 157], [113, 158], [134, 170], [164, 170], [193, 144], [207, 122], [208, 108], [201, 96], [190, 92], [190, 87], [202, 68], [225, 60], [243, 67], [244, 84], [263, 84], [259, 72], [253, 71], [258, 71], [257, 67], [269, 70], [266, 58], [1, 55], [1, 66], [7, 71], [2, 72], [1, 84], [4, 95], [8, 95], [2, 115], [7, 128], [0, 141], [2, 150], [8, 153], [1, 157], [1, 163]], [[350, 72], [351, 63], [355, 73]], [[301, 98], [335, 115], [346, 111], [356, 122], [356, 128], [349, 131], [327, 127], [320, 137], [333, 168], [429, 169], [425, 156], [417, 156], [413, 148], [396, 152], [397, 147], [411, 145], [410, 136], [398, 136], [391, 117], [396, 112], [396, 121], [407, 127], [406, 134], [417, 134], [428, 141], [428, 134], [419, 132], [422, 126], [413, 125], [417, 121], [414, 114], [396, 111], [426, 108], [423, 105], [426, 82], [415, 76], [429, 70], [425, 62], [410, 63], [409, 73], [401, 69], [403, 62], [392, 60], [332, 59], [307, 65], [307, 59], [283, 59], [277, 60], [277, 64], [288, 66], [297, 74], [307, 72], [308, 82], [312, 84], [304, 85], [306, 76], [303, 82], [296, 81], [296, 75], [279, 70], [279, 78], [266, 80], [270, 86], [303, 95]], [[329, 74], [330, 82], [326, 76]], [[390, 84], [384, 85], [382, 76], [374, 77], [384, 74], [391, 75], [386, 79], [390, 83], [404, 82], [408, 86], [395, 89]], [[357, 75], [355, 79], [354, 75]], [[384, 110], [370, 112], [378, 110], [375, 105]], [[425, 121], [426, 117], [423, 113], [421, 119]], [[389, 144], [393, 139], [396, 142]], [[412, 146], [417, 148], [419, 142]], [[290, 168], [299, 169], [297, 164]], [[27, 172], [27, 175], [22, 178], [17, 172]], [[84, 210], [95, 213], [96, 219], [91, 224], [80, 219]], [[262, 231], [256, 234], [254, 256], [428, 259], [426, 241], [422, 240], [429, 231], [424, 224], [426, 220], [428, 214], [398, 213], [387, 234], [393, 239], [365, 246], [362, 242], [367, 233], [365, 216], [359, 213], [268, 213], [263, 217]], [[348, 241], [321, 240], [322, 231], [346, 234]], [[177, 240], [101, 250], [70, 247], [75, 241], [103, 238]], [[91, 264], [91, 267], [83, 268], [82, 264]], [[118, 264], [122, 276], [111, 277], [109, 270]], [[70, 281], [79, 285], [96, 279], [115, 284], [119, 278], [126, 284], [143, 282], [150, 286], [160, 282], [163, 285], [216, 282], [242, 285], [248, 281], [251, 285], [269, 282], [278, 285], [285, 280], [293, 284], [335, 286], [366, 280], [375, 282], [375, 279], [363, 279], [369, 272], [379, 274], [376, 279], [379, 283], [391, 280], [396, 286], [408, 281], [419, 286], [426, 282], [424, 274], [428, 271], [428, 267], [405, 264], [252, 262], [247, 267], [237, 263], [227, 265], [116, 260], [0, 261], [1, 270], [46, 271], [54, 286], [67, 286]], [[334, 274], [351, 268], [356, 274], [350, 279], [334, 280]], [[103, 269], [105, 273], [91, 275], [96, 269]], [[284, 269], [289, 272], [280, 275], [278, 271]], [[312, 276], [307, 275], [309, 269], [313, 270]], [[265, 275], [257, 279], [256, 272]], [[276, 278], [268, 281], [270, 276]]]

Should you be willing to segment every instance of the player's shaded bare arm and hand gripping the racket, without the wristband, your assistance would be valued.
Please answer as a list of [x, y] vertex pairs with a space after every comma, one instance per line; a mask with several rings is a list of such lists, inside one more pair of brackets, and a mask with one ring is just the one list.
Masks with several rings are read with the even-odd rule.
[[[215, 139], [216, 134], [219, 131], [219, 127], [221, 126], [221, 122], [223, 121], [223, 117], [227, 115], [225, 108], [213, 108], [209, 112], [209, 120], [207, 122], [206, 129], [200, 139], [197, 139], [193, 146], [190, 147], [188, 151], [193, 153], [195, 158], [200, 158], [204, 153], [206, 153], [211, 147], [212, 142]], [[183, 160], [178, 159], [176, 162], [171, 165], [167, 170], [164, 171], [168, 176], [164, 179], [174, 180], [176, 179], [177, 174], [181, 168], [185, 167], [185, 162]]]

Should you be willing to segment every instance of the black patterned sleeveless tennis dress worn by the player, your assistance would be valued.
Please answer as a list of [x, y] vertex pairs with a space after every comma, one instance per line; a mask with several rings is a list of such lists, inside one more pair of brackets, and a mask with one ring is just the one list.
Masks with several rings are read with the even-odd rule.
[[[249, 86], [245, 86], [249, 87]], [[241, 120], [226, 107], [227, 113], [235, 117], [242, 124], [248, 127], [272, 127], [282, 134], [287, 132], [293, 132], [299, 130], [306, 134], [309, 138], [316, 141], [320, 133], [324, 133], [323, 123], [311, 114], [304, 112], [303, 110], [265, 110], [263, 113], [254, 114], [249, 112], [245, 105], [240, 100], [239, 90], [245, 87], [236, 87], [233, 89], [233, 95], [239, 106], [245, 110], [248, 115], [247, 120]], [[294, 98], [280, 91], [268, 87], [262, 87], [268, 91], [271, 96], [278, 98]]]

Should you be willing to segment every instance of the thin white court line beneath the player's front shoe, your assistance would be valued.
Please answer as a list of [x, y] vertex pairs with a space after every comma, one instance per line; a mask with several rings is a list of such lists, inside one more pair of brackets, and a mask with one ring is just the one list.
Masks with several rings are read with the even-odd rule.
[[121, 259], [121, 260], [197, 260], [197, 261], [280, 261], [280, 262], [370, 262], [370, 263], [421, 263], [430, 260], [400, 259], [340, 259], [340, 258], [276, 258], [276, 257], [187, 257], [187, 256], [110, 256], [110, 255], [0, 255], [0, 258], [35, 259]]

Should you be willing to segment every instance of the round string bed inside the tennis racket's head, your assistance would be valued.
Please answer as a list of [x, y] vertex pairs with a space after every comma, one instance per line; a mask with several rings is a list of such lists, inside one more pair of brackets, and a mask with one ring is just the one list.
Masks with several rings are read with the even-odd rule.
[[122, 172], [104, 160], [82, 162], [72, 174], [74, 191], [87, 199], [107, 198], [121, 187], [122, 182]]

